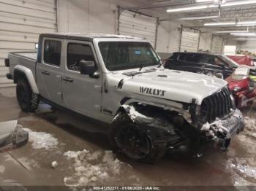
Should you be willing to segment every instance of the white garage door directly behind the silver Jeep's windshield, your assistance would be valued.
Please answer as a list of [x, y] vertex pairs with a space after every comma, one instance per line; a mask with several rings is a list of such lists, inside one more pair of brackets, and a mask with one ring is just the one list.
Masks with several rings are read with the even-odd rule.
[[157, 19], [124, 10], [118, 23], [118, 34], [145, 38], [155, 47]]

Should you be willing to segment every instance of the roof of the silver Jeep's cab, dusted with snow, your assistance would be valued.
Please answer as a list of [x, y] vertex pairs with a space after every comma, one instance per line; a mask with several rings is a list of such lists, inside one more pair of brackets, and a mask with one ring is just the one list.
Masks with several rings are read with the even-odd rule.
[[124, 36], [116, 34], [82, 34], [82, 33], [53, 33], [53, 34], [40, 34], [40, 37], [59, 38], [59, 39], [76, 39], [92, 41], [99, 38], [119, 38], [119, 39], [143, 39], [134, 36]]

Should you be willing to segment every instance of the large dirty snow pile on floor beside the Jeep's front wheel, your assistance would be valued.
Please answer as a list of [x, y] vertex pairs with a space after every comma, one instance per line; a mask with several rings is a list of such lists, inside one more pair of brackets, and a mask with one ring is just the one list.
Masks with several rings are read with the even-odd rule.
[[131, 168], [130, 165], [118, 160], [112, 151], [68, 151], [64, 153], [68, 160], [72, 160], [72, 176], [64, 178], [67, 186], [86, 186], [94, 182], [110, 182], [118, 180], [124, 168]]

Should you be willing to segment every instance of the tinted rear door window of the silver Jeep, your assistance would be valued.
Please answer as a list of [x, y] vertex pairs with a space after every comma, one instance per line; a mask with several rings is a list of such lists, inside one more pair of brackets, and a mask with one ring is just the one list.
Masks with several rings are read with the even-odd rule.
[[45, 40], [44, 63], [53, 66], [61, 64], [61, 42], [56, 40]]

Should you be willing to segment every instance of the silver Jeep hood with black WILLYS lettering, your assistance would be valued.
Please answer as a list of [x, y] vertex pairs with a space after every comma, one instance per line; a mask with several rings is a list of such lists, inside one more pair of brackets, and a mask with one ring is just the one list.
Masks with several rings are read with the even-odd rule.
[[127, 77], [127, 75], [124, 75], [124, 71], [118, 71], [110, 76], [109, 86], [118, 88], [119, 85], [119, 90], [127, 93], [185, 103], [191, 103], [192, 99], [195, 98], [199, 105], [202, 103], [203, 98], [216, 93], [227, 85], [225, 80], [216, 77], [169, 69], [144, 71], [134, 77]]

